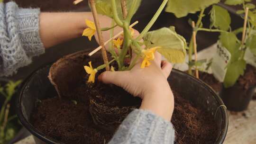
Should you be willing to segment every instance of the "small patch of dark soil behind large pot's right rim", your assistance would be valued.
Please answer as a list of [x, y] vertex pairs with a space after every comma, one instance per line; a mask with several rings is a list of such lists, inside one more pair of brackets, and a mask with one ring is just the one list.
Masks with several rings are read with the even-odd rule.
[[206, 72], [199, 72], [200, 80], [207, 83], [213, 90], [220, 92], [222, 90], [222, 83], [219, 82], [212, 74]]

